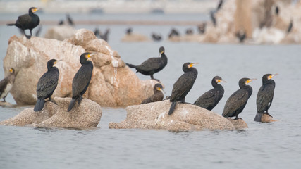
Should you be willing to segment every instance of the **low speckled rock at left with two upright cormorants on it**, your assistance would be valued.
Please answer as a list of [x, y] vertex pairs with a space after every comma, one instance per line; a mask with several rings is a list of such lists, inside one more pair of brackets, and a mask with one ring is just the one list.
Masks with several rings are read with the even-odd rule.
[[18, 125], [35, 127], [97, 127], [102, 117], [102, 108], [90, 99], [82, 99], [80, 106], [67, 112], [70, 98], [55, 97], [57, 105], [47, 101], [42, 111], [25, 108], [13, 118], [0, 122], [0, 125]]

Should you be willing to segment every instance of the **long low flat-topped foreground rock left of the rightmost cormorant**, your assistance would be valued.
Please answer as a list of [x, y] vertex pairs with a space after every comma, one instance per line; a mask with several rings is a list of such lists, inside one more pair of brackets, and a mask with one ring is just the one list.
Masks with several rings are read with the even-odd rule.
[[150, 104], [128, 106], [127, 117], [121, 123], [110, 123], [113, 129], [164, 129], [164, 130], [235, 130], [246, 128], [243, 120], [231, 120], [192, 104], [177, 104], [172, 115], [168, 115], [169, 100]]

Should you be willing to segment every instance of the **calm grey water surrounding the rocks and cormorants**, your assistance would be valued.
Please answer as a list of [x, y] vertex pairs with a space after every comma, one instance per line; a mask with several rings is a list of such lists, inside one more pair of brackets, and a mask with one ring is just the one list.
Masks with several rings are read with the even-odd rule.
[[[42, 16], [51, 18], [49, 15]], [[61, 18], [63, 17], [61, 15]], [[102, 17], [105, 18], [106, 15]], [[127, 17], [133, 16], [125, 16]], [[165, 20], [176, 20], [173, 15], [162, 17]], [[185, 18], [185, 15], [181, 17]], [[156, 15], [155, 18], [160, 17]], [[1, 20], [5, 18], [1, 17]], [[94, 30], [96, 26], [77, 25], [77, 28]], [[49, 25], [43, 26], [42, 34], [46, 32], [47, 27]], [[154, 77], [164, 83], [166, 95], [171, 94], [173, 83], [183, 74], [183, 63], [188, 61], [199, 62], [196, 66], [199, 75], [186, 97], [188, 102], [195, 101], [198, 96], [211, 89], [212, 77], [223, 77], [227, 81], [223, 84], [225, 94], [213, 110], [216, 113], [222, 113], [226, 100], [238, 89], [240, 78], [259, 79], [250, 83], [253, 94], [240, 114], [240, 118], [247, 122], [249, 128], [193, 132], [109, 130], [109, 122], [124, 120], [126, 112], [123, 108], [103, 108], [98, 127], [91, 130], [0, 126], [0, 168], [300, 168], [299, 45], [167, 41], [122, 43], [120, 39], [128, 25], [99, 25], [101, 30], [106, 27], [111, 28], [109, 44], [126, 62], [142, 63], [149, 57], [158, 56], [159, 46], [165, 47], [168, 65]], [[191, 26], [174, 27], [183, 33]], [[156, 31], [165, 37], [170, 28], [171, 26], [133, 25], [134, 32], [150, 35], [152, 31]], [[18, 33], [16, 28], [0, 25], [1, 65], [6, 55], [9, 37]], [[265, 73], [279, 74], [274, 77], [276, 91], [269, 111], [279, 120], [276, 123], [253, 122], [256, 94]], [[149, 79], [137, 75], [143, 80]], [[3, 69], [0, 69], [0, 77], [4, 77]], [[11, 95], [8, 95], [7, 101], [15, 103]], [[25, 107], [0, 107], [0, 120], [17, 115]]]

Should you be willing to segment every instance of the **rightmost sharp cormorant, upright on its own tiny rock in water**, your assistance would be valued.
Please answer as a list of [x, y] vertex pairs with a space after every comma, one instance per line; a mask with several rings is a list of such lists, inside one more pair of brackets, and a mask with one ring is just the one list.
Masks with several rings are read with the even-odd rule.
[[[275, 81], [271, 80], [274, 76], [278, 74], [266, 74], [262, 77], [262, 87], [260, 87], [257, 93], [257, 114], [254, 121], [260, 122], [262, 120], [262, 114], [266, 113], [271, 116], [268, 112], [271, 102], [274, 97]], [[272, 117], [272, 116], [271, 116]]]

